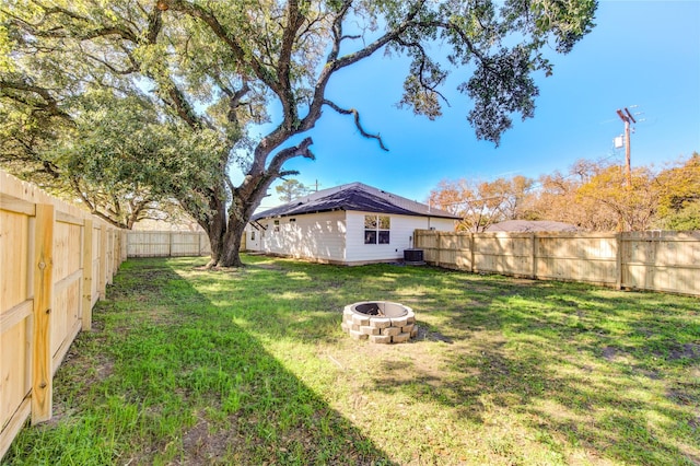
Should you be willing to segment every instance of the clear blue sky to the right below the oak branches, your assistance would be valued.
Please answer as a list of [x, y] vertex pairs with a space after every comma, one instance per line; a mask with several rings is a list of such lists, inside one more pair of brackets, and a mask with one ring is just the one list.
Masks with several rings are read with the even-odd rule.
[[[327, 108], [310, 133], [316, 161], [284, 166], [322, 189], [362, 182], [423, 201], [444, 178], [537, 178], [579, 159], [623, 163], [612, 143], [623, 131], [616, 110], [633, 105], [640, 121], [632, 166], [662, 167], [700, 151], [700, 1], [603, 0], [596, 24], [569, 55], [552, 54], [553, 75], [537, 77], [535, 117], [516, 119], [499, 148], [478, 141], [468, 125], [470, 102], [454, 91], [458, 71], [445, 89], [451, 107], [430, 121], [396, 107], [407, 61], [380, 55], [336, 75], [327, 96], [358, 108], [389, 152], [362, 138], [351, 117]], [[262, 207], [277, 203], [272, 191]]]

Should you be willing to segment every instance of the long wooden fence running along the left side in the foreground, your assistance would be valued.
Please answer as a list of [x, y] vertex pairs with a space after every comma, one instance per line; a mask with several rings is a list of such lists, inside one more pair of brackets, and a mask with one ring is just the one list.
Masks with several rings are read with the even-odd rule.
[[0, 458], [27, 418], [51, 418], [54, 374], [125, 245], [121, 230], [0, 172]]

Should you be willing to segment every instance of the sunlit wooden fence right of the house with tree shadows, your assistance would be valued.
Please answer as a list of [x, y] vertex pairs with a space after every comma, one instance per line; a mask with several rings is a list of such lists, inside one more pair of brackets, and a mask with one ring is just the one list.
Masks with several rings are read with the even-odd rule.
[[700, 232], [417, 230], [415, 246], [445, 268], [700, 295]]

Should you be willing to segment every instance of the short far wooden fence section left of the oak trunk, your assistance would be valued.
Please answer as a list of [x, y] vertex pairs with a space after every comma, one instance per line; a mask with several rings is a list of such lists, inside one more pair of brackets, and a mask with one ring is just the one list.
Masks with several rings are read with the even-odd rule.
[[180, 257], [211, 254], [209, 237], [205, 232], [129, 231], [128, 257]]

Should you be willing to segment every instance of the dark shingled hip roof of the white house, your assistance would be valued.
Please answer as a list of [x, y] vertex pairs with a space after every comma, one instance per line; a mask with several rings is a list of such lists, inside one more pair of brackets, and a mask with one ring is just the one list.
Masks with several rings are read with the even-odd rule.
[[444, 210], [431, 208], [424, 203], [416, 202], [362, 183], [351, 183], [349, 185], [323, 189], [283, 206], [258, 212], [253, 215], [252, 220], [300, 215], [303, 213], [330, 212], [334, 210], [458, 219], [458, 217]]

